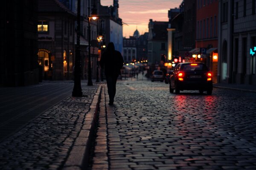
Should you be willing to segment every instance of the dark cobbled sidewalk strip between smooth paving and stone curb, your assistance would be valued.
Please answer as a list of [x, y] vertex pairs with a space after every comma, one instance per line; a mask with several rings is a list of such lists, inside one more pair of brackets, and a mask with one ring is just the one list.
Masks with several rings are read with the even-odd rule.
[[70, 93], [57, 105], [0, 143], [0, 169], [61, 169], [81, 131], [82, 122], [90, 110], [98, 87], [99, 85], [82, 84], [85, 97], [72, 97]]

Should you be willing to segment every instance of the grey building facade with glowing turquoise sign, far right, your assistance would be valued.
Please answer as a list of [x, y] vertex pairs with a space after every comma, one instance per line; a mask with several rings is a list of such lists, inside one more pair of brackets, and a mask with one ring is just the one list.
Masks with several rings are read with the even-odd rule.
[[219, 82], [256, 85], [255, 3], [255, 0], [219, 0]]

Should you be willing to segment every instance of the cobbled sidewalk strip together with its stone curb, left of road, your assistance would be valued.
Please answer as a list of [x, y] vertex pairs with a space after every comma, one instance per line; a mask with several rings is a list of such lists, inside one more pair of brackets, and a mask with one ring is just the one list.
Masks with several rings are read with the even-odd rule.
[[[57, 85], [60, 82], [52, 83]], [[0, 143], [1, 170], [74, 170], [86, 167], [84, 160], [89, 155], [102, 85], [93, 83], [93, 86], [87, 86], [82, 81], [81, 86], [83, 97], [70, 94]]]

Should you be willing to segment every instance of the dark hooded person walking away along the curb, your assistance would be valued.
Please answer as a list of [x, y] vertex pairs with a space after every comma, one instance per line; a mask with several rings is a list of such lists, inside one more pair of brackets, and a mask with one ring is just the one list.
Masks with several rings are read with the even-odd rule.
[[122, 54], [115, 50], [113, 42], [109, 42], [107, 50], [102, 54], [99, 61], [101, 68], [105, 68], [105, 75], [108, 85], [109, 105], [113, 105], [116, 95], [116, 81], [121, 75], [121, 68], [124, 64]]

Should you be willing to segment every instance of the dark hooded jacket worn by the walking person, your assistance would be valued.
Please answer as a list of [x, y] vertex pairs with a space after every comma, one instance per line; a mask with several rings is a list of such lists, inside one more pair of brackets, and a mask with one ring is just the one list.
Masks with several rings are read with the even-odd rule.
[[118, 76], [121, 74], [121, 68], [124, 60], [122, 54], [115, 50], [113, 42], [108, 44], [107, 50], [102, 54], [99, 61], [101, 68], [105, 68], [106, 76]]

